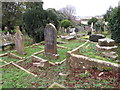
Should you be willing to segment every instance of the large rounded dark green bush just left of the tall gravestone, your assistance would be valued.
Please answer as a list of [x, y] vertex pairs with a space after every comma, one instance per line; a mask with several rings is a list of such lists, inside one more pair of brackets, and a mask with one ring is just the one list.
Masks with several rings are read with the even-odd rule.
[[34, 42], [42, 41], [44, 38], [44, 27], [46, 11], [40, 7], [33, 8], [24, 13], [23, 21], [26, 33], [34, 39]]

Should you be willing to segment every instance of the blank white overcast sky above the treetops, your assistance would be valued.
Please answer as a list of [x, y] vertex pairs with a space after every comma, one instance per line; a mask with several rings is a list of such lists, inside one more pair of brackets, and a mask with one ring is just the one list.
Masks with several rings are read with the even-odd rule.
[[118, 6], [120, 0], [42, 0], [43, 8], [55, 8], [59, 10], [71, 5], [76, 8], [76, 16], [96, 16], [103, 15], [110, 6]]

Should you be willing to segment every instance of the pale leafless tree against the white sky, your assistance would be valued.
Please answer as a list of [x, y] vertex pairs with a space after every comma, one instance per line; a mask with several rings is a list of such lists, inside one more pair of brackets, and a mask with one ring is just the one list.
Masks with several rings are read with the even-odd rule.
[[67, 5], [66, 7], [60, 9], [60, 12], [63, 13], [68, 19], [72, 19], [76, 13], [74, 6]]

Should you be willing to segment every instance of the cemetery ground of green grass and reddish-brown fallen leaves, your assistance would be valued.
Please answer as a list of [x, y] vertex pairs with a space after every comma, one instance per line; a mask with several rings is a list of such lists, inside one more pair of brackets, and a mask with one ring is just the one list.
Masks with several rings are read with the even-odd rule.
[[[7, 54], [2, 56], [0, 60], [2, 66], [2, 68], [0, 68], [0, 72], [2, 73], [2, 81], [0, 83], [2, 84], [2, 88], [48, 88], [54, 82], [66, 88], [120, 88], [120, 75], [117, 70], [107, 67], [103, 67], [102, 69], [97, 67], [91, 69], [76, 68], [71, 73], [71, 71], [66, 68], [66, 62], [62, 61], [67, 57], [67, 51], [71, 51], [83, 45], [87, 39], [86, 36], [70, 41], [64, 41], [58, 38], [57, 41], [65, 43], [57, 45], [58, 54], [60, 56], [57, 60], [51, 60], [44, 56], [44, 42], [26, 46], [26, 55], [20, 55], [16, 53], [15, 50], [3, 51], [0, 55]], [[101, 54], [102, 52], [96, 49], [95, 45], [96, 42], [88, 42], [76, 54], [118, 64], [116, 60], [104, 57]], [[6, 47], [6, 49], [7, 48], [9, 47]], [[37, 52], [40, 53], [36, 54]], [[10, 56], [11, 53], [14, 57]], [[117, 53], [118, 55], [120, 53], [119, 45]], [[50, 65], [50, 67], [47, 68], [38, 68], [33, 65], [31, 55], [46, 59], [51, 63], [62, 63], [55, 63], [55, 65]], [[118, 57], [118, 59], [119, 58], [120, 57]], [[16, 67], [16, 65], [18, 65], [18, 67]], [[22, 69], [20, 69], [19, 66]], [[68, 73], [68, 75], [60, 75], [60, 73]]]

